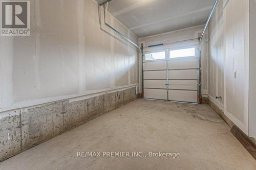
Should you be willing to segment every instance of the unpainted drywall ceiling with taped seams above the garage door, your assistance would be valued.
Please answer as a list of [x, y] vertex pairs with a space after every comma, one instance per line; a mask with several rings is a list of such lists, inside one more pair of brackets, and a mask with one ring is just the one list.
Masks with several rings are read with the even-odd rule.
[[141, 38], [204, 25], [213, 5], [214, 0], [112, 0], [108, 11]]

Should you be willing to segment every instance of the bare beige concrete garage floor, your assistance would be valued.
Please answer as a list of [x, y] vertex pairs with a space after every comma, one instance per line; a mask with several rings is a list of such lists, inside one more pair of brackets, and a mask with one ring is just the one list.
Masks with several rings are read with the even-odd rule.
[[[0, 163], [0, 169], [256, 169], [208, 105], [136, 100]], [[179, 152], [179, 158], [77, 157], [80, 151]]]

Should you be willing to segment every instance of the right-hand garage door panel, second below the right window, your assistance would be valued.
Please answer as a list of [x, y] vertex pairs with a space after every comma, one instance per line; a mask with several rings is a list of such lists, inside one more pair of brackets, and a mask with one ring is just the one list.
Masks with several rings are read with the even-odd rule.
[[197, 69], [169, 70], [169, 79], [197, 79]]

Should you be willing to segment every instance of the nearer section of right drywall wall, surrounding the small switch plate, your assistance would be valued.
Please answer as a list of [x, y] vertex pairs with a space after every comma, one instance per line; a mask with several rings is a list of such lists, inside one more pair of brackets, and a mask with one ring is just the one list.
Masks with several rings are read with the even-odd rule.
[[[224, 8], [224, 109], [233, 123], [248, 134], [249, 0], [232, 0]], [[234, 78], [237, 71], [237, 78]]]

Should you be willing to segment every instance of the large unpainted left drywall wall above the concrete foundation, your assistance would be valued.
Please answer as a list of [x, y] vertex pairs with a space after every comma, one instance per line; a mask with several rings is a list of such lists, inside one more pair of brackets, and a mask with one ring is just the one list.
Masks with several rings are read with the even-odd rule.
[[[107, 20], [138, 42], [109, 14]], [[31, 36], [0, 37], [0, 112], [136, 85], [138, 79], [138, 50], [101, 29], [93, 0], [31, 0]]]

